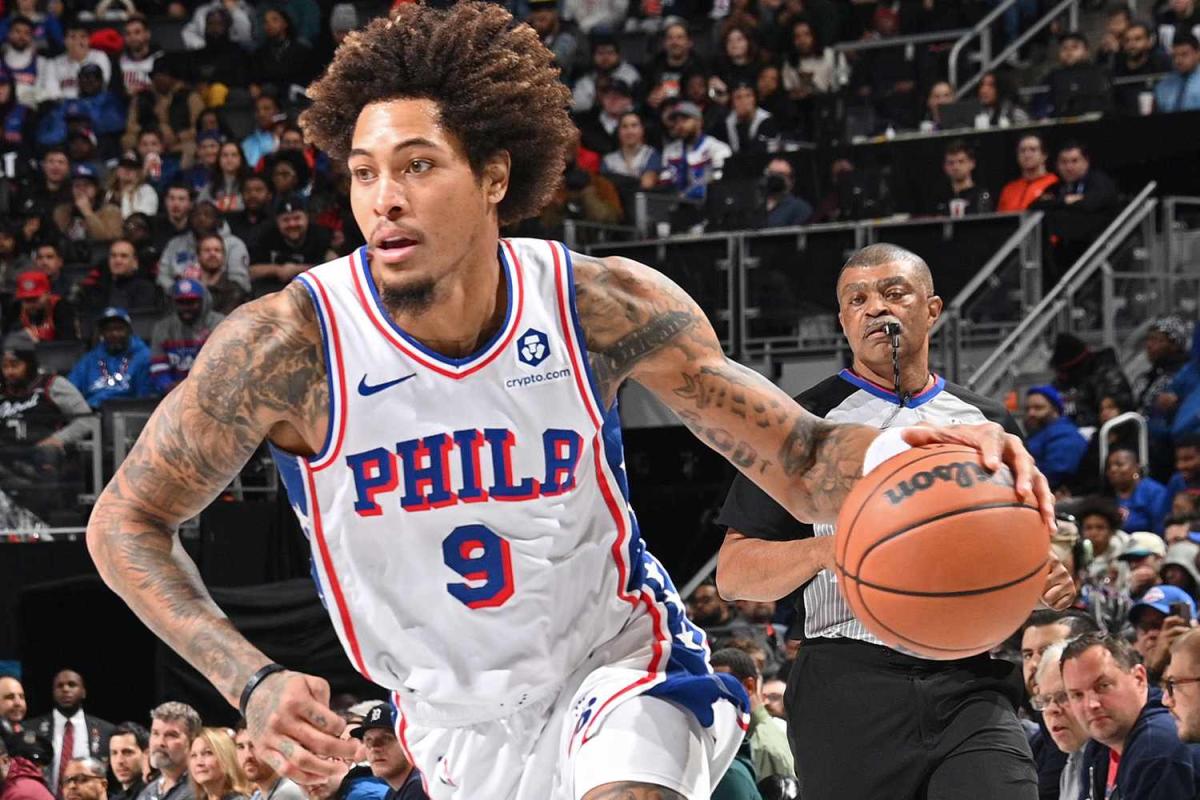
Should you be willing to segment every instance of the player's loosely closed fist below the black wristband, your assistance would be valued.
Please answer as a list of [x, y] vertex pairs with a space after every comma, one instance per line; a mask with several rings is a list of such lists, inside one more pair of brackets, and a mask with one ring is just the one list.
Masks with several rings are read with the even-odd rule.
[[301, 786], [323, 783], [358, 742], [340, 738], [346, 722], [329, 709], [329, 684], [298, 672], [268, 675], [250, 696], [246, 728], [276, 772]]

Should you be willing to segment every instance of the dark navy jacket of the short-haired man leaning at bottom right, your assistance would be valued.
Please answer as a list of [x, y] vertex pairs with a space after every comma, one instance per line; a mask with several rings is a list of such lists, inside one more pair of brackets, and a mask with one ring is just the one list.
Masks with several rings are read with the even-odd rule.
[[[1175, 720], [1163, 708], [1163, 692], [1152, 688], [1138, 722], [1126, 739], [1117, 766], [1117, 789], [1110, 800], [1190, 800], [1200, 795], [1200, 745], [1184, 745]], [[1104, 798], [1109, 748], [1097, 741], [1084, 751], [1084, 783], [1090, 795]]]

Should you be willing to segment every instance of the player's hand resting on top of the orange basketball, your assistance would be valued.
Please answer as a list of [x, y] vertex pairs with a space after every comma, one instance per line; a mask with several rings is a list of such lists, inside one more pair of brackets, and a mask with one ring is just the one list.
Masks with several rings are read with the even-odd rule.
[[1016, 497], [1042, 512], [1042, 521], [1052, 533], [1057, 530], [1054, 517], [1054, 493], [1045, 476], [1038, 471], [1033, 456], [1021, 440], [995, 422], [980, 425], [950, 425], [941, 428], [917, 425], [905, 428], [904, 440], [913, 447], [922, 445], [967, 445], [979, 451], [983, 465], [996, 471], [1002, 464], [1013, 470]]

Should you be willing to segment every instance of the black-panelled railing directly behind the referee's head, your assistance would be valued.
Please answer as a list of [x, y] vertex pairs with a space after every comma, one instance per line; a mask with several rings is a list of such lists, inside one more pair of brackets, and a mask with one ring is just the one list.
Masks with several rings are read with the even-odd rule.
[[[889, 241], [926, 255], [938, 275], [938, 290], [958, 297], [1006, 248], [1021, 222], [1019, 213], [900, 217], [598, 242], [581, 249], [625, 255], [662, 271], [709, 314], [726, 353], [773, 369], [776, 360], [845, 353], [834, 282], [842, 261], [859, 247]], [[970, 311], [967, 299], [960, 308]], [[960, 341], [964, 347], [994, 344], [1018, 319], [1014, 313], [998, 327], [962, 326]]]

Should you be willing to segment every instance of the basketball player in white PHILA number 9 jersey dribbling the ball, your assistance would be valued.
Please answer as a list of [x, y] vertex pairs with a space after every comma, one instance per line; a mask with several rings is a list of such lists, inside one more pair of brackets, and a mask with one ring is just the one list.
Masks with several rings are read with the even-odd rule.
[[1045, 481], [997, 426], [824, 423], [726, 360], [653, 270], [500, 239], [550, 200], [575, 132], [551, 53], [499, 6], [403, 5], [310, 96], [306, 137], [348, 158], [370, 243], [230, 314], [88, 533], [277, 771], [318, 783], [353, 757], [329, 687], [234, 630], [174, 539], [264, 438], [334, 627], [392, 691], [436, 800], [700, 800], [737, 751], [744, 690], [712, 673], [629, 509], [628, 378], [798, 517], [832, 518], [864, 461], [959, 441], [1009, 463], [1049, 530]]

